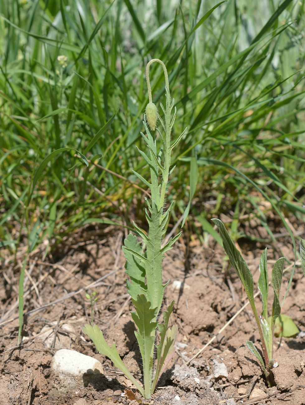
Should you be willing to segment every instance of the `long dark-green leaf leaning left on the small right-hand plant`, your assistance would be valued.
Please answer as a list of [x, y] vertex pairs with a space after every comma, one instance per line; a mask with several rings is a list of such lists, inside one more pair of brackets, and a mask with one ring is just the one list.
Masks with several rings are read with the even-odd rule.
[[247, 266], [247, 263], [245, 262], [243, 256], [241, 256], [241, 253], [235, 247], [235, 244], [232, 241], [230, 235], [228, 234], [224, 224], [216, 218], [212, 219], [212, 221], [214, 222], [215, 225], [218, 226], [219, 233], [222, 238], [222, 242], [224, 244], [224, 250], [226, 251], [226, 254], [229, 256], [230, 263], [236, 270], [241, 280], [241, 283], [245, 288], [245, 292], [250, 301], [252, 309], [255, 309], [254, 284], [250, 269]]

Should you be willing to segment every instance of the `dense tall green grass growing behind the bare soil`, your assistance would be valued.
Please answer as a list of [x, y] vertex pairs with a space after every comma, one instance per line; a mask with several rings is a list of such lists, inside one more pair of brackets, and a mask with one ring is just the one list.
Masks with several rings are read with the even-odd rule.
[[[221, 213], [235, 238], [255, 216], [275, 240], [270, 210], [304, 221], [304, 15], [304, 0], [0, 0], [6, 252], [48, 241], [46, 254], [85, 224], [141, 225], [132, 168], [147, 170], [135, 145], [151, 58], [168, 68], [174, 133], [188, 126], [171, 226], [190, 197], [187, 228], [201, 240], [219, 239], [210, 219]], [[155, 103], [162, 75], [152, 67]]]

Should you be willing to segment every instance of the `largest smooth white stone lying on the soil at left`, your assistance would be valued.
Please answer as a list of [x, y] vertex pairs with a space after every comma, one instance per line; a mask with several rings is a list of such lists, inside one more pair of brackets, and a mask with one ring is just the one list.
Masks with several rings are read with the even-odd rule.
[[83, 376], [103, 374], [102, 364], [93, 357], [75, 350], [58, 350], [51, 362], [51, 369], [65, 385], [83, 385]]

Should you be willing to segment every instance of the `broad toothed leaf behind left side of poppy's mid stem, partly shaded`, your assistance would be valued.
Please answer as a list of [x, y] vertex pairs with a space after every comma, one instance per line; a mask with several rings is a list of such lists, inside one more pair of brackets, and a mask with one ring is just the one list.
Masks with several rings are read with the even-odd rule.
[[125, 273], [130, 277], [131, 283], [128, 281], [127, 289], [128, 294], [137, 299], [138, 294], [142, 294], [145, 286], [145, 268], [141, 263], [139, 257], [135, 256], [133, 252], [141, 255], [141, 243], [137, 243], [137, 237], [129, 234], [124, 240], [123, 246], [124, 256], [126, 258]]

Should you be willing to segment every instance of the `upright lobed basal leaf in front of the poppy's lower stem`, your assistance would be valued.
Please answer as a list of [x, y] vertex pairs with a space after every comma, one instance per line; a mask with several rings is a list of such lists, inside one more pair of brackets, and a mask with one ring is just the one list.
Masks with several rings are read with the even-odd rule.
[[154, 364], [154, 343], [156, 337], [156, 312], [157, 308], [151, 308], [151, 303], [147, 301], [144, 294], [138, 295], [137, 300], [132, 299], [136, 311], [131, 313], [138, 331], [134, 332], [139, 343], [139, 348], [143, 360], [144, 386], [149, 392], [152, 384], [152, 372]]

